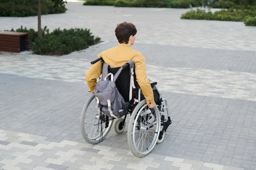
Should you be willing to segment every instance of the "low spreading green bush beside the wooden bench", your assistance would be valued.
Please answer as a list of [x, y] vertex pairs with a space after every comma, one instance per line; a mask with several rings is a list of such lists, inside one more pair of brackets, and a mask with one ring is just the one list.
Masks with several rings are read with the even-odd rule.
[[39, 55], [65, 55], [86, 49], [100, 41], [100, 38], [94, 38], [89, 29], [55, 29], [49, 33], [45, 26], [42, 29], [42, 37], [39, 38], [34, 29], [23, 29], [21, 26], [16, 31], [29, 33], [29, 49]]

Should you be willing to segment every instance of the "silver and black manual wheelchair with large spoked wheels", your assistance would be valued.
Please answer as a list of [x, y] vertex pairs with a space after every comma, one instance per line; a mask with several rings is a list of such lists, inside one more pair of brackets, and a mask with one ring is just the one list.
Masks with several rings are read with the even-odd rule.
[[[92, 61], [91, 64], [100, 60], [102, 61], [101, 58], [98, 58]], [[125, 67], [123, 66], [123, 68]], [[115, 68], [111, 72], [115, 72]], [[124, 79], [124, 75], [119, 77], [121, 77], [120, 80]], [[136, 82], [136, 79], [134, 81]], [[156, 87], [157, 82], [150, 81], [150, 84], [157, 106], [155, 108], [148, 108], [141, 89], [135, 88], [135, 91], [132, 92], [135, 98], [129, 101], [130, 108], [123, 116], [124, 118], [121, 117], [115, 121], [115, 132], [120, 134], [126, 127], [127, 115], [130, 115], [127, 141], [130, 151], [136, 157], [148, 155], [156, 144], [161, 144], [164, 140], [166, 129], [171, 124], [167, 100], [162, 98], [161, 93]], [[123, 85], [121, 86], [123, 87]], [[119, 88], [117, 87], [117, 89]], [[83, 138], [90, 144], [99, 143], [110, 132], [114, 120], [115, 118], [113, 117], [100, 114], [95, 96], [92, 94], [85, 103], [81, 113], [80, 126]]]

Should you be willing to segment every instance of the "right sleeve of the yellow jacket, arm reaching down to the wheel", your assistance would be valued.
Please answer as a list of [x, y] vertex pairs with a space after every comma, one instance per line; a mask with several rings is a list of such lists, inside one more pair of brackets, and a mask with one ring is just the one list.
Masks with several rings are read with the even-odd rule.
[[141, 88], [142, 94], [146, 98], [146, 103], [151, 105], [154, 103], [154, 94], [146, 75], [146, 60], [141, 54], [140, 57], [136, 57], [136, 60], [133, 62], [135, 64], [136, 79]]

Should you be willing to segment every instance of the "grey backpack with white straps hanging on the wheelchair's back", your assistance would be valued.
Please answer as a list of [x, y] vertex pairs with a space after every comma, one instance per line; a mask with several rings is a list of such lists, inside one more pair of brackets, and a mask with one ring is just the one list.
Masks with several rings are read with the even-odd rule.
[[[130, 66], [130, 75], [133, 82], [133, 62], [128, 62]], [[116, 87], [116, 80], [121, 71], [122, 67], [119, 68], [117, 73], [113, 75], [108, 72], [109, 65], [104, 63], [102, 67], [102, 79], [96, 84], [94, 89], [94, 95], [96, 99], [96, 106], [104, 115], [112, 118], [120, 118], [126, 114], [129, 104], [124, 101], [124, 98], [119, 93]], [[135, 88], [134, 83], [130, 83], [130, 89]]]

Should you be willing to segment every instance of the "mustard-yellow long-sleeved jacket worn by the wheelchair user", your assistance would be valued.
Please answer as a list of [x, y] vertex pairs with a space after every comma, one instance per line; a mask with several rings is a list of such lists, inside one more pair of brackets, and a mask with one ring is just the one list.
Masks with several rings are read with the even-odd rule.
[[[144, 56], [128, 44], [119, 44], [111, 49], [101, 52], [98, 57], [102, 57], [104, 62], [111, 68], [123, 66], [126, 62], [132, 61], [135, 64], [136, 80], [141, 88], [142, 94], [146, 98], [148, 105], [154, 103], [154, 95], [148, 77], [146, 75], [146, 60]], [[97, 78], [101, 75], [101, 62], [93, 64], [85, 73], [89, 92], [94, 93]]]

